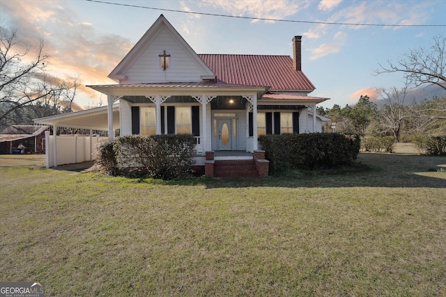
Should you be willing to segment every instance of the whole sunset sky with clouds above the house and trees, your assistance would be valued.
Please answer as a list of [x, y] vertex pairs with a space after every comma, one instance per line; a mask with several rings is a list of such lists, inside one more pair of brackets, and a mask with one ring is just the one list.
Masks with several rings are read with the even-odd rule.
[[401, 74], [374, 70], [445, 36], [446, 26], [426, 26], [446, 25], [445, 12], [443, 0], [0, 0], [0, 26], [17, 29], [34, 48], [43, 38], [49, 73], [79, 77], [79, 108], [98, 106], [100, 93], [84, 85], [114, 83], [107, 75], [160, 14], [197, 54], [292, 56], [291, 40], [302, 35], [302, 70], [316, 86], [309, 95], [331, 98], [322, 105], [332, 107], [374, 98], [376, 88], [401, 87]]

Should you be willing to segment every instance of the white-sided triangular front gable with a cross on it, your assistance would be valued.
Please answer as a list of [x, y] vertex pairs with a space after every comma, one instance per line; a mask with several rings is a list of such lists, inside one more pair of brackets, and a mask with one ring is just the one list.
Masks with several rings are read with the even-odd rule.
[[[160, 55], [169, 54], [169, 67]], [[163, 15], [109, 74], [119, 83], [200, 82], [215, 76]]]

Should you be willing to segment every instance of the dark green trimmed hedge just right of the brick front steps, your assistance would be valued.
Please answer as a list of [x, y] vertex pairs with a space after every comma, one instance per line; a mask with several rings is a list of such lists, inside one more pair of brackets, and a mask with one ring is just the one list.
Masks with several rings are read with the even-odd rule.
[[360, 150], [359, 136], [337, 133], [262, 135], [259, 141], [270, 161], [271, 174], [291, 168], [349, 166]]

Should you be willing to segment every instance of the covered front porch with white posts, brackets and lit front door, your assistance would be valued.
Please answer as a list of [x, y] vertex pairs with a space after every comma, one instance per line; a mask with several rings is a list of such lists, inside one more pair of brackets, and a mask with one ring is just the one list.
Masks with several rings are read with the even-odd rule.
[[[197, 153], [257, 150], [257, 100], [266, 87], [224, 83], [89, 86], [120, 104], [120, 135], [193, 134]], [[112, 110], [108, 122], [114, 122]], [[114, 138], [111, 124], [109, 138]]]

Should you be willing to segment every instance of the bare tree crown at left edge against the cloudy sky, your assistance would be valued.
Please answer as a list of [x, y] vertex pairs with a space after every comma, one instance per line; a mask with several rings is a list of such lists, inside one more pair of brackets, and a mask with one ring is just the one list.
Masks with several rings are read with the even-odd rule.
[[31, 47], [17, 38], [17, 30], [8, 31], [0, 26], [0, 103], [8, 106], [1, 110], [0, 120], [8, 114], [33, 102], [44, 100], [58, 104], [61, 99], [70, 102], [78, 85], [50, 77], [45, 72], [48, 56], [43, 51], [43, 40], [32, 58]]

